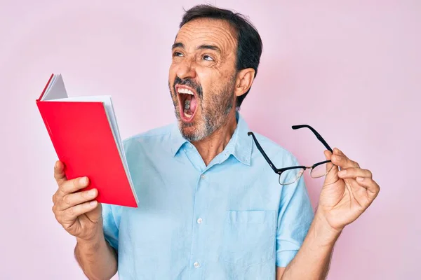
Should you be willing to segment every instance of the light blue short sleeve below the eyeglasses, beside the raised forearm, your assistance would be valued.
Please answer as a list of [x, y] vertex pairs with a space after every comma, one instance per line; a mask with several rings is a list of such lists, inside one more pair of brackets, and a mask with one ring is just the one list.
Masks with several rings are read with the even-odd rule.
[[[292, 165], [298, 165], [293, 160]], [[298, 253], [314, 218], [304, 176], [283, 186], [276, 231], [276, 266], [286, 267]]]

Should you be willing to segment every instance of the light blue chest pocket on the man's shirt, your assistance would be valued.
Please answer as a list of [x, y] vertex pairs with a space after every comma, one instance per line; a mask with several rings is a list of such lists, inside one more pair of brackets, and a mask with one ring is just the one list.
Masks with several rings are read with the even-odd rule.
[[227, 211], [220, 259], [245, 268], [274, 258], [275, 211]]

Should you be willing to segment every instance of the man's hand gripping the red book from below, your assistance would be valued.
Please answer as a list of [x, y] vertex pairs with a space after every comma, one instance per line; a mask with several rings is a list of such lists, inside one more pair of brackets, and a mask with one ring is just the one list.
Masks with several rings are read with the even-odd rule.
[[98, 190], [79, 191], [88, 186], [88, 178], [67, 180], [62, 162], [55, 162], [54, 178], [58, 190], [53, 195], [53, 212], [58, 223], [70, 235], [91, 241], [102, 234], [102, 207], [95, 199]]

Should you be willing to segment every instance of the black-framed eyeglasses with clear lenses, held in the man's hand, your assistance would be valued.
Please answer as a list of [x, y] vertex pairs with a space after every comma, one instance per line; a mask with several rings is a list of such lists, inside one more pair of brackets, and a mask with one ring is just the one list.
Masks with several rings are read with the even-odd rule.
[[[330, 146], [326, 143], [326, 141], [323, 139], [323, 137], [321, 137], [321, 135], [316, 132], [316, 130], [314, 130], [313, 127], [309, 126], [309, 125], [293, 125], [293, 130], [298, 130], [302, 127], [307, 127], [309, 128], [309, 130], [312, 130], [312, 132], [314, 133], [314, 135], [316, 135], [317, 139], [319, 139], [319, 141], [321, 141], [321, 143], [326, 147], [326, 149], [328, 149], [331, 153], [333, 153], [332, 148], [330, 148]], [[332, 170], [333, 168], [333, 164], [332, 165], [328, 165], [329, 162], [331, 162], [330, 160], [326, 160], [323, 162], [317, 162], [314, 165], [312, 165], [311, 167], [306, 167], [306, 166], [293, 166], [293, 167], [284, 167], [284, 168], [276, 168], [275, 165], [272, 163], [272, 161], [269, 159], [269, 157], [266, 155], [265, 151], [263, 151], [262, 146], [260, 146], [258, 139], [256, 139], [255, 135], [253, 134], [253, 132], [248, 132], [248, 135], [252, 136], [256, 146], [258, 147], [258, 150], [260, 151], [260, 153], [262, 153], [263, 158], [265, 158], [265, 160], [267, 161], [267, 163], [270, 165], [270, 167], [272, 167], [272, 169], [274, 170], [274, 172], [276, 174], [279, 174], [279, 183], [281, 185], [290, 185], [292, 183], [295, 183], [296, 181], [298, 181], [300, 179], [300, 177], [302, 176], [302, 174], [304, 174], [305, 170], [310, 169], [310, 176], [312, 176], [312, 178], [320, 178], [323, 176], [326, 176], [326, 174], [328, 174], [330, 172], [330, 170]]]

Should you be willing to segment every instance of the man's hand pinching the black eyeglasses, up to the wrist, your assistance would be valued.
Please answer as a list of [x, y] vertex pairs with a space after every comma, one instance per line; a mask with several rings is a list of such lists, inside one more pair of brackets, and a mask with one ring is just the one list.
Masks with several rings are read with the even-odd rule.
[[[373, 181], [370, 170], [361, 169], [338, 148], [333, 149], [333, 155], [325, 151], [325, 156], [334, 166], [323, 183], [318, 218], [323, 218], [333, 231], [340, 232], [366, 211], [380, 187]], [[328, 168], [331, 166], [329, 163]]]

